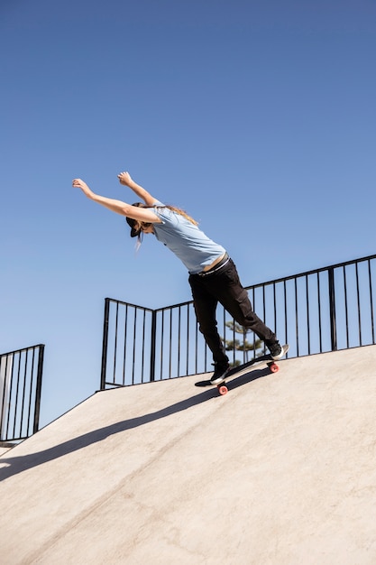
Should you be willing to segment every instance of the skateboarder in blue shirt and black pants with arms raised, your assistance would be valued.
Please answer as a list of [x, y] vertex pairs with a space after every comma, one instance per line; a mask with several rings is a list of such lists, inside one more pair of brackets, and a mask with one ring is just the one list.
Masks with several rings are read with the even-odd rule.
[[199, 330], [213, 354], [215, 371], [210, 379], [211, 383], [222, 382], [230, 368], [224, 344], [216, 328], [218, 302], [238, 324], [252, 329], [265, 342], [272, 359], [283, 357], [284, 352], [275, 333], [253, 312], [248, 292], [243, 288], [236, 266], [225, 248], [209, 239], [197, 227], [197, 221], [182, 209], [162, 204], [151, 196], [133, 181], [129, 172], [124, 171], [117, 176], [121, 184], [133, 190], [142, 202], [127, 204], [122, 200], [99, 196], [81, 179], [75, 179], [73, 187], [81, 189], [87, 198], [125, 216], [131, 227], [131, 237], [137, 237], [139, 245], [143, 234], [153, 234], [187, 267]]

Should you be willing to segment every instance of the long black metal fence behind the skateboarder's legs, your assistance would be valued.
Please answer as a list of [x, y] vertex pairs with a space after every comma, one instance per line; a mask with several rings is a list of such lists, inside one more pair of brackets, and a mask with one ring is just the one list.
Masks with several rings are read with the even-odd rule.
[[[247, 290], [253, 310], [280, 343], [289, 343], [288, 357], [302, 357], [374, 344], [375, 285], [376, 255], [371, 255]], [[239, 338], [221, 305], [217, 320], [233, 363], [261, 353], [252, 333]], [[211, 362], [192, 301], [151, 310], [105, 299], [102, 390], [206, 373]]]

